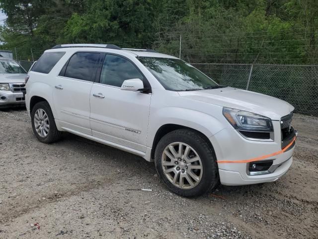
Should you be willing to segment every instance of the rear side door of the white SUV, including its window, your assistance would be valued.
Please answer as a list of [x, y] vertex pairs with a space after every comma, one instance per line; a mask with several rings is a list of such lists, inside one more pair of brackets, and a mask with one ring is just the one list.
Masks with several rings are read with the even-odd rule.
[[89, 94], [98, 52], [76, 52], [55, 80], [53, 100], [62, 127], [91, 135]]

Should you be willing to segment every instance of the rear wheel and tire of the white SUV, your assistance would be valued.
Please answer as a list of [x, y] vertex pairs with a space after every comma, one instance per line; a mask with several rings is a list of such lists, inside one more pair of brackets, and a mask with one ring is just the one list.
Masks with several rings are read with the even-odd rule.
[[[42, 114], [43, 112], [45, 115]], [[45, 101], [39, 102], [33, 107], [31, 124], [33, 133], [42, 143], [53, 143], [61, 138], [62, 132], [57, 129], [51, 107]], [[43, 130], [39, 130], [40, 128]]]

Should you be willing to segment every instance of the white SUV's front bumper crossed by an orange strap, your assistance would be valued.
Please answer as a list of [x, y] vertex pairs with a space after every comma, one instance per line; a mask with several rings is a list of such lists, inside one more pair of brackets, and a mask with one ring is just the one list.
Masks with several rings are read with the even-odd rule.
[[[274, 125], [274, 131], [280, 130], [280, 125]], [[274, 141], [254, 141], [242, 137], [235, 129], [226, 128], [210, 138], [218, 161], [231, 161], [230, 163], [218, 163], [221, 184], [246, 185], [276, 181], [282, 177], [293, 162], [295, 145], [280, 154], [270, 156], [266, 160], [273, 160], [274, 171], [262, 175], [250, 175], [249, 163], [244, 161], [263, 155], [272, 154], [281, 150], [280, 134], [275, 134]], [[259, 161], [261, 162], [261, 161]]]

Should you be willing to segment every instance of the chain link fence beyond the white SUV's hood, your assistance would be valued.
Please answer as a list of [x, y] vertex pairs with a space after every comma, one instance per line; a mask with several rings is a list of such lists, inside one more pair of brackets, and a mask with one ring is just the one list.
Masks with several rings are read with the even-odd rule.
[[192, 64], [221, 85], [287, 101], [296, 113], [318, 116], [318, 65]]

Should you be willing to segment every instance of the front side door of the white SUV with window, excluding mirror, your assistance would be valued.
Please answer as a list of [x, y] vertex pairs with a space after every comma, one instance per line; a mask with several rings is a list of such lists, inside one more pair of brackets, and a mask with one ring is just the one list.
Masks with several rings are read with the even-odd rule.
[[146, 79], [128, 59], [107, 54], [90, 93], [92, 135], [146, 152], [151, 94], [122, 91], [125, 80]]

